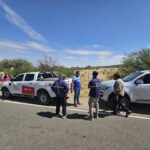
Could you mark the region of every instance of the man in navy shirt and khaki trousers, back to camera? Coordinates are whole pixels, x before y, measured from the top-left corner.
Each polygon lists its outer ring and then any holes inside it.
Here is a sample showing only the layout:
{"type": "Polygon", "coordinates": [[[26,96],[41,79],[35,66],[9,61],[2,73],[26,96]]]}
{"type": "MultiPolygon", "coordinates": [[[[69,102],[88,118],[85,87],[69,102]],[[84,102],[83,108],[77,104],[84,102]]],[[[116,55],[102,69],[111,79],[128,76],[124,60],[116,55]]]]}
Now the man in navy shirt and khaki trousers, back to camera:
{"type": "Polygon", "coordinates": [[[100,97],[100,88],[101,88],[101,81],[97,78],[98,72],[93,71],[92,74],[93,78],[91,81],[89,81],[88,87],[90,88],[89,92],[89,119],[94,120],[93,117],[93,107],[96,109],[96,119],[98,118],[99,113],[99,97],[100,97]]]}

